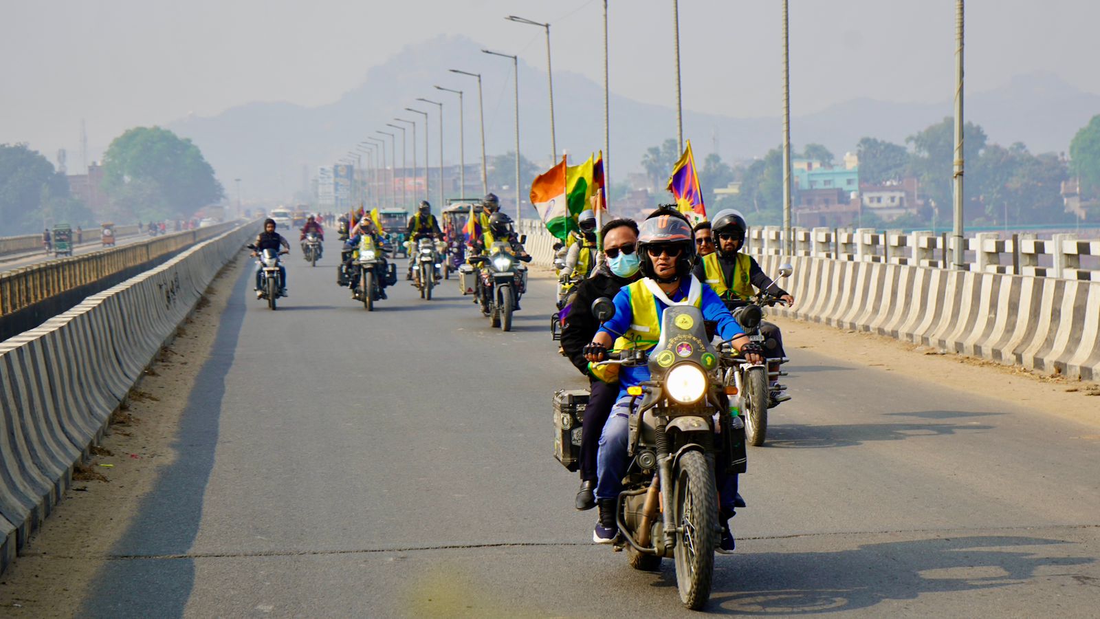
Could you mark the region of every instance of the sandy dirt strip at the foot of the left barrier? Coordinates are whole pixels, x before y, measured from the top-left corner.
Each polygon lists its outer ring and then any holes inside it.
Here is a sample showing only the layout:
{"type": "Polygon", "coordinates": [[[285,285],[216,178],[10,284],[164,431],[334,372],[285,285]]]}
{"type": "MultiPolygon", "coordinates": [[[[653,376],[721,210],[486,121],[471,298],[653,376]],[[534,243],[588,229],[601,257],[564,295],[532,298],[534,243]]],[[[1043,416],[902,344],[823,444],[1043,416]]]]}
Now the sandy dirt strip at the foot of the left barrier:
{"type": "Polygon", "coordinates": [[[191,385],[210,356],[218,321],[246,264],[215,278],[175,339],[117,412],[111,434],[73,479],[73,488],[0,577],[0,617],[74,617],[92,578],[176,454],[170,445],[191,385]]]}

